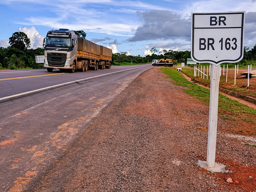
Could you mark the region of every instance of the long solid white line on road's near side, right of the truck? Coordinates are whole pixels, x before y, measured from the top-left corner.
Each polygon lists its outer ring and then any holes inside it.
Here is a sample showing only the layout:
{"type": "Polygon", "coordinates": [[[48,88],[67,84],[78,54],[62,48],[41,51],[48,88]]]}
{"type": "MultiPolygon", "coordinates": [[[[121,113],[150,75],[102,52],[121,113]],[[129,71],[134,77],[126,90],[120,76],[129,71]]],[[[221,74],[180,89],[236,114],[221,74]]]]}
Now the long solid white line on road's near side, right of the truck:
{"type": "MultiPolygon", "coordinates": [[[[148,67],[148,66],[146,66],[146,67],[148,67]]],[[[139,69],[139,68],[145,68],[145,67],[137,67],[137,68],[132,68],[132,69],[139,69]]],[[[109,75],[109,74],[114,74],[114,73],[119,73],[119,72],[123,72],[123,71],[127,71],[127,70],[132,70],[132,69],[120,70],[120,71],[106,73],[106,74],[102,74],[102,75],[98,75],[98,76],[87,77],[87,78],[84,78],[84,79],[78,79],[76,81],[70,81],[70,82],[66,82],[66,83],[56,84],[56,85],[53,85],[53,86],[44,87],[44,88],[40,88],[40,89],[33,90],[33,91],[27,91],[27,92],[24,92],[24,93],[18,93],[16,95],[10,95],[10,96],[6,96],[6,97],[2,97],[2,98],[0,98],[0,101],[1,100],[5,100],[5,99],[11,99],[13,97],[19,97],[19,96],[22,96],[22,95],[27,95],[29,93],[34,93],[34,92],[38,92],[38,91],[44,91],[44,90],[47,90],[47,89],[52,89],[54,87],[59,87],[59,86],[67,85],[67,84],[72,84],[72,83],[79,82],[79,81],[84,81],[84,80],[91,79],[91,78],[97,78],[97,77],[106,76],[106,75],[109,75]]]]}

